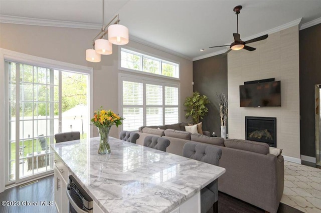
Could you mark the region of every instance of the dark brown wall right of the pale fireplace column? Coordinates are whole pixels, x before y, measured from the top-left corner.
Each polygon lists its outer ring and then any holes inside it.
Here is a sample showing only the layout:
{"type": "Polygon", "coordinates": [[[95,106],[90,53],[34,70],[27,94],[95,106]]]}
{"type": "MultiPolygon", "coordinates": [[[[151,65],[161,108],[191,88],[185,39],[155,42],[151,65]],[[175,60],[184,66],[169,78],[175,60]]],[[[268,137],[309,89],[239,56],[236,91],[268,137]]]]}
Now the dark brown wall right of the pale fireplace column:
{"type": "Polygon", "coordinates": [[[314,84],[321,83],[321,24],[299,31],[300,149],[315,157],[314,84]]]}

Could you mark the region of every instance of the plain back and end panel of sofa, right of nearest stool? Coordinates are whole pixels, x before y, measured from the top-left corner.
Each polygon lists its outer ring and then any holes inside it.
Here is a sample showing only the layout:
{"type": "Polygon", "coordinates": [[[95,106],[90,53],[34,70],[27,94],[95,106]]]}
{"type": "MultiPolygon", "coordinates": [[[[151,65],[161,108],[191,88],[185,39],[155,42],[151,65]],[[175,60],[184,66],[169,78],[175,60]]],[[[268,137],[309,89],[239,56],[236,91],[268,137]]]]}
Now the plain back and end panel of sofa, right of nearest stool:
{"type": "Polygon", "coordinates": [[[226,172],[219,177],[219,190],[275,213],[284,186],[283,156],[221,148],[219,166],[226,172]]]}

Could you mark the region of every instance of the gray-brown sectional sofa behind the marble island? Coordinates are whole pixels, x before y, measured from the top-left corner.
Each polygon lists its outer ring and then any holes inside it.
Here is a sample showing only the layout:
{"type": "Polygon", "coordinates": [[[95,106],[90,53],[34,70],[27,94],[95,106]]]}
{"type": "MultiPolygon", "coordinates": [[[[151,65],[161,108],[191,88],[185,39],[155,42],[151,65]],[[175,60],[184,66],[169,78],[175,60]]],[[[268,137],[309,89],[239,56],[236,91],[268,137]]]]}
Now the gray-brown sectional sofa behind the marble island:
{"type": "Polygon", "coordinates": [[[284,162],[281,154],[269,153],[269,145],[241,139],[210,137],[177,129],[142,127],[137,144],[147,135],[167,138],[167,152],[183,155],[186,142],[208,143],[222,149],[219,165],[226,172],[219,177],[219,190],[268,212],[277,212],[283,194],[284,162]]]}

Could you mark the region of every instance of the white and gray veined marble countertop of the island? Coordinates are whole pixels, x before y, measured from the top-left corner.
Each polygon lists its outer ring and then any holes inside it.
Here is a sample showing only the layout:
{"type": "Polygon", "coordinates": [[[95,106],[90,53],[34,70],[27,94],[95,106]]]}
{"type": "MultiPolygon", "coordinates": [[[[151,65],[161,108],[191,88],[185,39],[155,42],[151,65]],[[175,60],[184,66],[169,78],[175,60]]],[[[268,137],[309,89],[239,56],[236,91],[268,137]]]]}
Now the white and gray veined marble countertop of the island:
{"type": "Polygon", "coordinates": [[[106,212],[169,212],[225,172],[225,168],[110,139],[98,154],[99,137],[52,147],[92,199],[106,212]]]}

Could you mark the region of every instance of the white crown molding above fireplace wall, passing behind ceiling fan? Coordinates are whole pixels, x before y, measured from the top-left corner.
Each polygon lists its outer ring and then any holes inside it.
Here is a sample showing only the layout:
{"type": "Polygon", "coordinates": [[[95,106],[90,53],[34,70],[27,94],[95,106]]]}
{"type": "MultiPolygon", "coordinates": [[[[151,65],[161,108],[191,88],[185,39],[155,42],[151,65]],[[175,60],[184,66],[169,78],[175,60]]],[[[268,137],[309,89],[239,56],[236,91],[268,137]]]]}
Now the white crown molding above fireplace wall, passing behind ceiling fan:
{"type": "MultiPolygon", "coordinates": [[[[298,18],[296,20],[293,20],[293,21],[290,21],[288,23],[285,23],[285,24],[282,24],[280,26],[277,26],[277,27],[274,27],[272,29],[268,29],[266,31],[263,31],[263,32],[260,32],[260,33],[257,33],[257,34],[254,34],[254,35],[251,35],[251,36],[248,36],[248,37],[244,37],[242,38],[242,40],[250,40],[250,39],[253,39],[253,38],[256,38],[256,37],[259,37],[259,36],[262,36],[262,35],[265,35],[265,34],[271,34],[271,33],[274,33],[274,32],[278,32],[278,31],[281,31],[283,29],[287,29],[289,27],[292,27],[292,26],[295,26],[295,25],[298,25],[300,22],[301,22],[301,19],[302,18],[298,18]]],[[[311,22],[311,21],[310,21],[311,22]]],[[[214,56],[214,55],[218,55],[218,54],[222,54],[224,52],[226,52],[227,50],[219,50],[219,51],[216,51],[216,52],[212,52],[212,53],[209,53],[209,54],[205,54],[205,55],[201,55],[201,56],[198,56],[198,57],[194,57],[193,58],[193,61],[194,60],[199,60],[199,59],[203,59],[203,58],[207,58],[207,57],[211,57],[211,56],[214,56]],[[223,51],[223,52],[222,52],[223,51]]]]}

